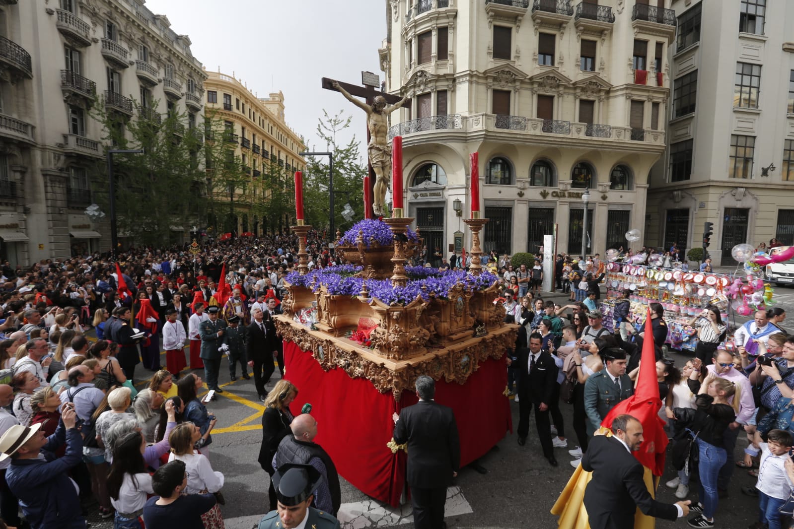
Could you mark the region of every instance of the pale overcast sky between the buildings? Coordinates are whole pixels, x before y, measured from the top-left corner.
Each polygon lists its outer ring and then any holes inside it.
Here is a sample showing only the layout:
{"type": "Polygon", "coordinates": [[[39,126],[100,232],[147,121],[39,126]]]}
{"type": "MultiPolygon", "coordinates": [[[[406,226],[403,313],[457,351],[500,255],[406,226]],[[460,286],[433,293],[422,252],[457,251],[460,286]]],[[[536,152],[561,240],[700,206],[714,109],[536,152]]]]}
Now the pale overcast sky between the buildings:
{"type": "Polygon", "coordinates": [[[326,109],[344,109],[365,156],[364,112],[341,94],[320,87],[329,77],[360,84],[361,71],[380,71],[378,48],[386,37],[384,0],[147,0],[172,29],[187,34],[207,71],[235,75],[260,98],[281,90],[287,124],[310,148],[325,151],[316,129],[326,109]]]}

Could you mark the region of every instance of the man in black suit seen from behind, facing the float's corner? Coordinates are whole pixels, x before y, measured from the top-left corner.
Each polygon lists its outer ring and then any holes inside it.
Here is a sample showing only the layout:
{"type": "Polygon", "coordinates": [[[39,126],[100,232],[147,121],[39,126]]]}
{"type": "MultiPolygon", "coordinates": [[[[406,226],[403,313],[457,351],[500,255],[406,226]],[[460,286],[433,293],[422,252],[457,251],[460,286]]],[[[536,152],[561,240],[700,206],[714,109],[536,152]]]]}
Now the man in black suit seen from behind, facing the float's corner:
{"type": "Polygon", "coordinates": [[[436,384],[423,374],[416,379],[418,404],[403,409],[395,420],[395,443],[408,443],[410,502],[416,529],[441,529],[446,488],[461,465],[461,443],[452,408],[433,400],[436,384]]]}

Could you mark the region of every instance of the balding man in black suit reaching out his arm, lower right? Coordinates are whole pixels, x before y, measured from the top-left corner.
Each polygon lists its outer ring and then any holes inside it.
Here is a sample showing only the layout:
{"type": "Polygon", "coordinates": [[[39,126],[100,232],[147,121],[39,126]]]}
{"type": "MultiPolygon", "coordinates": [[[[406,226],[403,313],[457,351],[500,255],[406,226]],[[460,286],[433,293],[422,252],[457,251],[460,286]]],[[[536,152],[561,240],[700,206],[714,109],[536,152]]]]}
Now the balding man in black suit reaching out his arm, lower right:
{"type": "Polygon", "coordinates": [[[689,514],[689,500],[663,504],[654,500],[642,464],[632,452],[642,444],[642,423],[630,415],[612,421],[612,435],[595,435],[582,458],[582,469],[592,472],[584,490],[584,507],[591,529],[632,529],[637,508],[646,516],[675,520],[689,514]]]}

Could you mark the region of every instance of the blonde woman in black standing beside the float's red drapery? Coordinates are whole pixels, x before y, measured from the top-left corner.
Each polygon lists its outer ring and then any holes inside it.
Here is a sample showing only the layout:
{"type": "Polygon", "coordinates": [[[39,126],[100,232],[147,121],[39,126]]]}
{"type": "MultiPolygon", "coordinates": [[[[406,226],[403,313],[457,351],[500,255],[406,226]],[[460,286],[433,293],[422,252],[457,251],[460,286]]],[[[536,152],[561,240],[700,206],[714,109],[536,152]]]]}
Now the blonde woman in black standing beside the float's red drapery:
{"type": "Polygon", "coordinates": [[[288,380],[283,378],[276,383],[268,397],[264,400],[264,412],[262,413],[262,446],[259,450],[259,464],[270,476],[270,487],[268,497],[270,499],[269,510],[276,508],[276,489],[273,489],[273,456],[279,448],[281,439],[291,435],[290,424],[292,423],[292,412],[290,404],[298,396],[298,388],[288,380]]]}

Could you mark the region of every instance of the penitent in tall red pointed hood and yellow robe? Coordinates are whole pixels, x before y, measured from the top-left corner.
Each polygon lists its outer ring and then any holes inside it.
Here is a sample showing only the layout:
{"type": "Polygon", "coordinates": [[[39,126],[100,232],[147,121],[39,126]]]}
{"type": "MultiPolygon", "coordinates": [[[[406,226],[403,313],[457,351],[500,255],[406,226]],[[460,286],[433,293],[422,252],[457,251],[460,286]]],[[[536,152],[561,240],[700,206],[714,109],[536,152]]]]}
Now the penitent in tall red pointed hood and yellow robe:
{"type": "MultiPolygon", "coordinates": [[[[634,457],[645,467],[644,480],[648,492],[655,496],[659,477],[665,471],[665,450],[667,448],[667,434],[665,421],[659,417],[661,399],[659,398],[659,384],[656,378],[656,355],[653,345],[653,326],[650,319],[650,309],[646,318],[645,340],[642,343],[642,364],[634,385],[634,395],[625,401],[620,401],[612,408],[601,422],[601,433],[611,435],[612,420],[624,413],[633,416],[642,423],[642,435],[645,441],[640,449],[634,452],[634,457]]],[[[591,473],[582,470],[580,465],[565,485],[557,503],[551,512],[560,516],[558,525],[561,529],[587,529],[588,513],[584,508],[584,489],[590,482],[591,473]]],[[[656,519],[645,516],[637,509],[634,517],[635,529],[653,529],[656,519]]]]}

